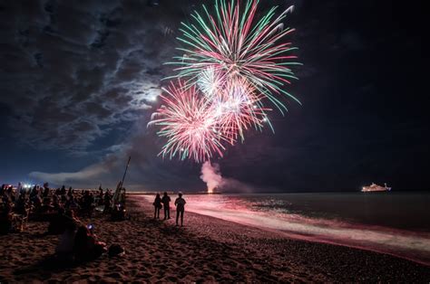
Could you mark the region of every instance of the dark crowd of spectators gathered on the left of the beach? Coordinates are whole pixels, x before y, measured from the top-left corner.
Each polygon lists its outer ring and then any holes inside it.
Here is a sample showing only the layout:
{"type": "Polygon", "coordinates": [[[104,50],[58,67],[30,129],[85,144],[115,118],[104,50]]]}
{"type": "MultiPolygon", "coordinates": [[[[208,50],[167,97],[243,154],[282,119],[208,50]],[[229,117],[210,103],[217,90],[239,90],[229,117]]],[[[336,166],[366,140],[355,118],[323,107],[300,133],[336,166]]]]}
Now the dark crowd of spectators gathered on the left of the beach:
{"type": "Polygon", "coordinates": [[[48,184],[24,188],[20,185],[2,185],[0,188],[0,234],[23,232],[30,218],[49,222],[46,234],[60,235],[55,250],[58,260],[93,260],[107,251],[106,244],[98,241],[92,224],[83,224],[79,217],[91,217],[96,206],[103,213],[112,213],[123,204],[112,206],[109,189],[98,191],[68,190],[65,186],[50,189],[48,184]]]}

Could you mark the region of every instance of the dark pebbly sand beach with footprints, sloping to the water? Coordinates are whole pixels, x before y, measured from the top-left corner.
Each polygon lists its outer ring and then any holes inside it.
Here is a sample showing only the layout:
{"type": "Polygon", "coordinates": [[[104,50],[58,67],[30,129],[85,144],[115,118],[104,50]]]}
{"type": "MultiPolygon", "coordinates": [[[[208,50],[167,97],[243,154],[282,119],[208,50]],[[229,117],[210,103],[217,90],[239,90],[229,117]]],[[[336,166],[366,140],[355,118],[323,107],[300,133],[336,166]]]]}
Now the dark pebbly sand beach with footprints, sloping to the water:
{"type": "MultiPolygon", "coordinates": [[[[44,235],[47,222],[0,236],[0,282],[428,282],[430,268],[373,251],[288,239],[276,232],[196,213],[185,226],[152,219],[142,196],[128,197],[131,220],[90,219],[100,241],[121,244],[126,254],[56,267],[49,261],[58,241],[44,235]]],[[[162,213],[161,213],[162,214],[162,213]]],[[[175,214],[171,214],[174,218],[175,214]]]]}

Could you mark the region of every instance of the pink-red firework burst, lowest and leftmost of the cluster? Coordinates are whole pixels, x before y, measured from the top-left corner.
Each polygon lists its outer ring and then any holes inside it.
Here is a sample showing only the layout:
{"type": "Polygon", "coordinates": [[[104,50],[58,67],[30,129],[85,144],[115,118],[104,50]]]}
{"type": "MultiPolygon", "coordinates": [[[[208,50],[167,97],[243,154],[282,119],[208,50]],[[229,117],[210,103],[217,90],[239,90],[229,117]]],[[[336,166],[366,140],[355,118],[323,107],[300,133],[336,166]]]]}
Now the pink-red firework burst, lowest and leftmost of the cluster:
{"type": "Polygon", "coordinates": [[[178,81],[163,90],[166,93],[161,95],[163,105],[152,114],[149,124],[160,126],[157,134],[168,139],[159,155],[202,162],[214,153],[222,156],[223,144],[234,144],[234,140],[219,131],[213,106],[195,87],[186,89],[178,81]]]}

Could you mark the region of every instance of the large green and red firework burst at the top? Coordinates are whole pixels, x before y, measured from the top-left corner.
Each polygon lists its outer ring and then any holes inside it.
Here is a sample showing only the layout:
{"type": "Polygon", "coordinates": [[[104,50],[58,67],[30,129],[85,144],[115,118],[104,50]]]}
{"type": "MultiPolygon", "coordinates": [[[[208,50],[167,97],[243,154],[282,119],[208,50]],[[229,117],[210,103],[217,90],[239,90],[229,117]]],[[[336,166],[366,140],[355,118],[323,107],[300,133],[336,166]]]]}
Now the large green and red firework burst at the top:
{"type": "MultiPolygon", "coordinates": [[[[290,80],[298,79],[289,68],[299,64],[291,54],[296,48],[281,41],[294,31],[281,23],[292,6],[278,17],[275,17],[277,7],[272,7],[268,14],[257,19],[258,3],[258,0],[249,0],[242,7],[239,1],[217,0],[214,15],[205,5],[202,5],[202,14],[191,14],[193,22],[181,23],[182,35],[178,38],[185,45],[179,48],[184,55],[168,62],[178,65],[175,69],[178,73],[168,78],[181,78],[187,85],[201,85],[202,80],[210,80],[208,72],[223,74],[223,80],[239,76],[249,80],[283,114],[287,107],[282,95],[298,101],[286,90],[290,80]]],[[[216,88],[218,82],[212,83],[203,85],[216,88]]]]}

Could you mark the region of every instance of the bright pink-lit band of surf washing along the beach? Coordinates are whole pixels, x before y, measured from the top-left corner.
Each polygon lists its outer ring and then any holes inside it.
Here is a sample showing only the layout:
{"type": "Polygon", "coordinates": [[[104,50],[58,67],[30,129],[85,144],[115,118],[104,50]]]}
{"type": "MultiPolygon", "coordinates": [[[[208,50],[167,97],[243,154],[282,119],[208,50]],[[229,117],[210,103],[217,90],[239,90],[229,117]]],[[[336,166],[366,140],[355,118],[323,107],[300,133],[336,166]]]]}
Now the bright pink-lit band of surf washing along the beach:
{"type": "MultiPolygon", "coordinates": [[[[288,213],[284,204],[249,206],[246,200],[231,201],[214,197],[199,202],[199,197],[188,196],[192,202],[186,210],[225,221],[238,222],[264,230],[276,231],[290,238],[346,245],[378,251],[430,265],[430,233],[411,232],[383,226],[366,225],[344,220],[313,218],[288,213]],[[274,206],[273,206],[274,205],[274,206]],[[252,208],[252,210],[249,209],[252,208]],[[269,209],[268,209],[269,208],[269,209]]],[[[146,196],[150,202],[153,196],[146,196]]]]}

